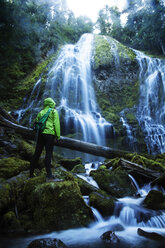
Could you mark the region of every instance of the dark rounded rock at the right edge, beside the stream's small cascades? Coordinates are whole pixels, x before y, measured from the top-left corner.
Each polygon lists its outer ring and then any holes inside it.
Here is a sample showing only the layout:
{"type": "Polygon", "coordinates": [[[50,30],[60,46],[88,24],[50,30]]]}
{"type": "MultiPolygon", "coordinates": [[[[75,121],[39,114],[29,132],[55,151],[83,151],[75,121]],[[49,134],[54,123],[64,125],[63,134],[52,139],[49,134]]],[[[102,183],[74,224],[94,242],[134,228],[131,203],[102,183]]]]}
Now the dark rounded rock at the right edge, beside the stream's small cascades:
{"type": "Polygon", "coordinates": [[[165,195],[161,191],[151,190],[144,199],[143,205],[154,210],[165,209],[165,195]]]}

